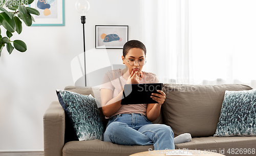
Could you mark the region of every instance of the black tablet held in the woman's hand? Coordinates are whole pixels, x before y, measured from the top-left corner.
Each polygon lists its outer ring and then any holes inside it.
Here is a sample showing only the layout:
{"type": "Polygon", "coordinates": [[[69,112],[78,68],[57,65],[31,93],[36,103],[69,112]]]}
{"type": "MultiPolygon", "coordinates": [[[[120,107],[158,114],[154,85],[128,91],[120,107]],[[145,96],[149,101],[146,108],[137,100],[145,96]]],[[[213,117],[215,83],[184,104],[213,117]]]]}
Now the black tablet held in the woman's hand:
{"type": "Polygon", "coordinates": [[[162,88],[163,83],[124,84],[121,104],[158,103],[150,96],[152,93],[160,94],[157,90],[162,91],[162,88]]]}

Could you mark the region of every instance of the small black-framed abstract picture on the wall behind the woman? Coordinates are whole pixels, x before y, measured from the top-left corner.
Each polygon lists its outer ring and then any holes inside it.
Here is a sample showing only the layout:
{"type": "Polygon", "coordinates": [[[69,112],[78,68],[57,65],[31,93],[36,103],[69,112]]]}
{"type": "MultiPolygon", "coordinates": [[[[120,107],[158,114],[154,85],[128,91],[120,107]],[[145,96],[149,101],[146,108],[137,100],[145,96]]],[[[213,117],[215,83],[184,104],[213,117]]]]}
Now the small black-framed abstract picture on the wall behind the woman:
{"type": "Polygon", "coordinates": [[[97,49],[122,49],[127,41],[128,26],[95,26],[95,48],[97,49]]]}

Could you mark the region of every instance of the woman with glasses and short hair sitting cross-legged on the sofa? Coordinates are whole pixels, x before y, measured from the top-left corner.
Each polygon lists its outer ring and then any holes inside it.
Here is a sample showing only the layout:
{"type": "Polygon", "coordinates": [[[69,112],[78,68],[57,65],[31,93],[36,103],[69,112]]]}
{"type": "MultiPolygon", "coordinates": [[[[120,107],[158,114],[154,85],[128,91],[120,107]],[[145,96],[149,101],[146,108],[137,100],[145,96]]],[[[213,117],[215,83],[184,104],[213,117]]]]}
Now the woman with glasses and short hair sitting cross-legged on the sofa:
{"type": "Polygon", "coordinates": [[[142,72],[146,48],[138,40],[123,46],[125,69],[106,72],[100,87],[102,111],[109,119],[103,140],[121,145],[154,145],[155,150],[175,149],[173,130],[164,124],[152,124],[165,100],[165,93],[152,94],[154,104],[121,105],[124,84],[158,83],[155,74],[142,72]]]}

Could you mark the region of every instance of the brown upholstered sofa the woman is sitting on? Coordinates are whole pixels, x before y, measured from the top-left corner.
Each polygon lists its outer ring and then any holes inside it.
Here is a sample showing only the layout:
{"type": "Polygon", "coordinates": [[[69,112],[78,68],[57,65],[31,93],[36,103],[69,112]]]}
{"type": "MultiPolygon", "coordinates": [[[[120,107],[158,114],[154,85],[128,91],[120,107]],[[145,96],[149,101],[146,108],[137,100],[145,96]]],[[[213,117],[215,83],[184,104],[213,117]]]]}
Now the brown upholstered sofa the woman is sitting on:
{"type": "MultiPolygon", "coordinates": [[[[107,120],[101,109],[100,91],[97,87],[67,86],[66,91],[82,95],[91,94],[97,100],[102,122],[107,120]]],[[[172,127],[175,137],[181,133],[191,134],[190,142],[175,144],[176,149],[196,149],[213,151],[224,155],[255,155],[256,137],[214,137],[219,122],[225,91],[248,91],[252,88],[243,84],[223,85],[188,85],[163,84],[166,94],[161,113],[153,123],[166,124],[172,127]],[[241,152],[241,149],[244,150],[241,152]],[[236,154],[240,150],[240,154],[236,154]],[[250,150],[251,152],[245,152],[250,150]]],[[[65,112],[58,101],[50,104],[44,115],[44,154],[45,156],[61,155],[131,155],[153,149],[148,146],[118,145],[101,140],[66,141],[65,112]]]]}

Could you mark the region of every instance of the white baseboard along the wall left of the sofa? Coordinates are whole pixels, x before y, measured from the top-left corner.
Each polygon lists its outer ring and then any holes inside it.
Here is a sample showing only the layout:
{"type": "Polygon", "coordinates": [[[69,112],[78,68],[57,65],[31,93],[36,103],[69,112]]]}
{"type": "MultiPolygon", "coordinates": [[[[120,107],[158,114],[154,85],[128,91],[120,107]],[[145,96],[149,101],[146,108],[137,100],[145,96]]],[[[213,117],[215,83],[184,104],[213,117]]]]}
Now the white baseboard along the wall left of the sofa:
{"type": "Polygon", "coordinates": [[[0,150],[0,156],[44,156],[44,150],[0,150]]]}

